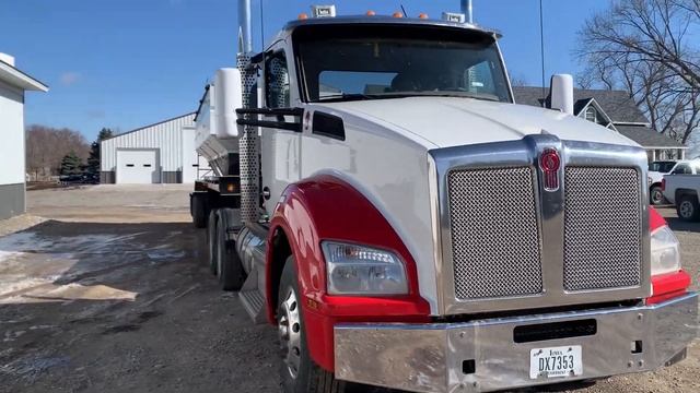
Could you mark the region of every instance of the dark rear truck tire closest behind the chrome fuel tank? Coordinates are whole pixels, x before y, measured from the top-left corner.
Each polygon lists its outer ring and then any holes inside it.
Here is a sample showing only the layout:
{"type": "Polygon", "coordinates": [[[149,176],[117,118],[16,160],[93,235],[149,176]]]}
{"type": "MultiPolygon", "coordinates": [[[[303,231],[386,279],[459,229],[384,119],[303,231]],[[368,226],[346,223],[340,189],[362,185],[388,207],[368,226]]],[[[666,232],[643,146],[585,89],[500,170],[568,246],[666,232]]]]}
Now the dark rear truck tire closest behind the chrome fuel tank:
{"type": "Polygon", "coordinates": [[[235,241],[229,240],[229,215],[219,211],[217,225],[217,275],[223,290],[238,290],[245,282],[245,271],[235,249],[235,241]]]}

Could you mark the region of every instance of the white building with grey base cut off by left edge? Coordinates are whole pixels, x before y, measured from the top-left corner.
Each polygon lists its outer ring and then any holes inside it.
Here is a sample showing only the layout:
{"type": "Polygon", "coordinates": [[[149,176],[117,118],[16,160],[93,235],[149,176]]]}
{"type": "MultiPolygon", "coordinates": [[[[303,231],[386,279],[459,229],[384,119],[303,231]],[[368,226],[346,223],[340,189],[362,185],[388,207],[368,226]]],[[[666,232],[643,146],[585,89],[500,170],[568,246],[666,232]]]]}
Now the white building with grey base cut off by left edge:
{"type": "Polygon", "coordinates": [[[48,87],[0,53],[0,219],[25,211],[24,92],[48,87]]]}

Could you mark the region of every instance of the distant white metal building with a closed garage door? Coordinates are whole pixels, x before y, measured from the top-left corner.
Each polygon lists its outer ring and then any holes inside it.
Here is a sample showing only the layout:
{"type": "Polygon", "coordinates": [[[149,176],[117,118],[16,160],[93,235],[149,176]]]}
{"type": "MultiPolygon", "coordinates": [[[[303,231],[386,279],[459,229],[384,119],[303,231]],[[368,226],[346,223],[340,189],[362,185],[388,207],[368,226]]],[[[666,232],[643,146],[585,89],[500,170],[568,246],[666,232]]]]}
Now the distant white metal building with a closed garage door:
{"type": "Polygon", "coordinates": [[[194,119],[187,114],[102,141],[101,182],[194,182],[209,169],[195,151],[194,119]]]}

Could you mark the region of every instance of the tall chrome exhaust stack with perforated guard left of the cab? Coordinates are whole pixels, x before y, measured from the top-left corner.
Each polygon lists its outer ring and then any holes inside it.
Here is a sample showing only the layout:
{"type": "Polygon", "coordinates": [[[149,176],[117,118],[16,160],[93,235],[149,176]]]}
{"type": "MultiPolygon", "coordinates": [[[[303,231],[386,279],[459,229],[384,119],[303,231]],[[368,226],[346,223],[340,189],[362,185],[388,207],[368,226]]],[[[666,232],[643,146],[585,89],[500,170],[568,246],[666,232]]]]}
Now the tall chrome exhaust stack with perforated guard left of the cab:
{"type": "MultiPolygon", "coordinates": [[[[252,67],[253,37],[250,36],[250,0],[238,0],[238,55],[237,68],[241,70],[243,107],[250,108],[253,88],[257,81],[257,70],[252,67]]],[[[245,115],[254,117],[255,115],[245,115]]],[[[253,126],[245,126],[238,139],[238,159],[241,160],[241,219],[243,223],[256,223],[259,207],[259,136],[253,126]]]]}

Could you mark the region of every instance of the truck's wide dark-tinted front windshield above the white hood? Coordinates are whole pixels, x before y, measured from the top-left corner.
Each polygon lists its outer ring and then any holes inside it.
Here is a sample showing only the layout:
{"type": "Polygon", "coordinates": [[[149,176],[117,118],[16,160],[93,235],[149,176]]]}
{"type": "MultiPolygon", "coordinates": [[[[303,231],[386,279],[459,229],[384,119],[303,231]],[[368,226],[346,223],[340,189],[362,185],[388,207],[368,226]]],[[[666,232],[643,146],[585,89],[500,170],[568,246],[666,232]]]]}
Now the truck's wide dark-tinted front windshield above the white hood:
{"type": "Polygon", "coordinates": [[[307,26],[294,35],[308,102],[464,96],[511,102],[495,40],[433,26],[307,26]]]}

